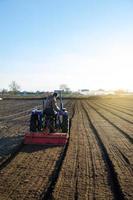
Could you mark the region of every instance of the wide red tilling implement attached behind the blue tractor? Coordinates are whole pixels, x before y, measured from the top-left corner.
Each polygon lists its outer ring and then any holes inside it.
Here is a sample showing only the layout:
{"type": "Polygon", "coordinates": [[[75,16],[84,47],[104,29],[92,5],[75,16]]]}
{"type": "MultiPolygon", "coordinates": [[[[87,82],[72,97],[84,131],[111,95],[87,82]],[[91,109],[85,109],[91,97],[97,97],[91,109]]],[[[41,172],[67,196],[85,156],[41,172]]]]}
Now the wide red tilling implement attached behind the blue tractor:
{"type": "Polygon", "coordinates": [[[40,145],[65,145],[68,140],[67,133],[26,133],[24,144],[40,144],[40,145]]]}

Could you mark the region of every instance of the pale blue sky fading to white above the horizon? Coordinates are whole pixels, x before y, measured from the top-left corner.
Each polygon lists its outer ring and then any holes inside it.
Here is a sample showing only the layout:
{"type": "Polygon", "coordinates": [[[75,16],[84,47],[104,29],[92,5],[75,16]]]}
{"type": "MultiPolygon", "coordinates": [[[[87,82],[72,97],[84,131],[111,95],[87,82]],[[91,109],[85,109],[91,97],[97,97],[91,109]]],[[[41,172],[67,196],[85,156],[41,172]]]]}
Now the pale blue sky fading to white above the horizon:
{"type": "Polygon", "coordinates": [[[133,91],[132,0],[0,0],[0,90],[133,91]]]}

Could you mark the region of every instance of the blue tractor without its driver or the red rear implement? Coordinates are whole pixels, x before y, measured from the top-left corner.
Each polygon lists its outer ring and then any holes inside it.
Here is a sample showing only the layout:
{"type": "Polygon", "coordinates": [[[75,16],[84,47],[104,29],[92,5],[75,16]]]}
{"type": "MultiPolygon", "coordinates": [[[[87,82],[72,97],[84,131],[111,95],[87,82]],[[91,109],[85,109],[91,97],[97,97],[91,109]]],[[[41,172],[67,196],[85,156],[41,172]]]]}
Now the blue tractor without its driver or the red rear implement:
{"type": "Polygon", "coordinates": [[[30,118],[30,132],[47,132],[47,133],[68,133],[69,117],[67,110],[63,107],[62,91],[56,90],[59,94],[60,111],[55,116],[45,114],[43,101],[43,110],[34,109],[30,118]]]}

